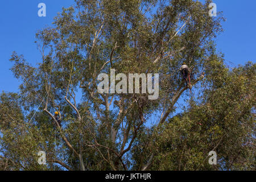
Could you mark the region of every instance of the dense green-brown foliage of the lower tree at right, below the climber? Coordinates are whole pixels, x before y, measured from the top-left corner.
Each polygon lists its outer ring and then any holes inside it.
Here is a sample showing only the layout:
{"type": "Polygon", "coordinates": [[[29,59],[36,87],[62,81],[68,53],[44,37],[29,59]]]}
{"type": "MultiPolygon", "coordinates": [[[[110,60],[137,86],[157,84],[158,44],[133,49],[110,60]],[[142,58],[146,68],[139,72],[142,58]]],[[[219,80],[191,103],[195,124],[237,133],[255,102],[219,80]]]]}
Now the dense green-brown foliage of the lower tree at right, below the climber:
{"type": "Polygon", "coordinates": [[[156,136],[152,169],[254,170],[255,71],[252,63],[232,72],[219,69],[220,80],[204,90],[204,102],[169,119],[156,136]],[[208,163],[212,150],[217,166],[208,163]]]}

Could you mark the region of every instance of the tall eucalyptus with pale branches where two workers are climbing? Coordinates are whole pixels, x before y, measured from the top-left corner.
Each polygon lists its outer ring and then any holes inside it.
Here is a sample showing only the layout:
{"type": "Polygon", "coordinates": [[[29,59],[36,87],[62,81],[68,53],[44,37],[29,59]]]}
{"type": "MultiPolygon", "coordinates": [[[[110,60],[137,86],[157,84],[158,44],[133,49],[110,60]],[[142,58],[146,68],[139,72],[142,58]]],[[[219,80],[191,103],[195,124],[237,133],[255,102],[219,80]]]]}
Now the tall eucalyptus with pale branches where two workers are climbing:
{"type": "MultiPolygon", "coordinates": [[[[16,52],[10,59],[14,76],[22,81],[19,119],[27,126],[27,139],[49,154],[47,169],[57,168],[53,163],[75,170],[131,169],[131,150],[142,144],[138,138],[148,128],[166,123],[188,90],[178,72],[180,65],[189,65],[194,88],[212,74],[210,61],[222,64],[214,38],[222,31],[224,18],[209,16],[211,1],[75,2],[56,16],[52,27],[37,32],[42,60],[36,67],[16,52]],[[99,93],[97,78],[101,73],[110,76],[110,69],[126,76],[158,73],[158,99],[148,100],[147,93],[99,93]],[[55,111],[64,123],[56,131],[51,130],[55,111]],[[40,142],[33,132],[44,133],[40,142]],[[57,142],[49,137],[53,133],[57,142]]],[[[137,169],[149,169],[154,156],[143,156],[137,169]]],[[[31,165],[38,167],[36,162],[19,167],[31,165]]]]}

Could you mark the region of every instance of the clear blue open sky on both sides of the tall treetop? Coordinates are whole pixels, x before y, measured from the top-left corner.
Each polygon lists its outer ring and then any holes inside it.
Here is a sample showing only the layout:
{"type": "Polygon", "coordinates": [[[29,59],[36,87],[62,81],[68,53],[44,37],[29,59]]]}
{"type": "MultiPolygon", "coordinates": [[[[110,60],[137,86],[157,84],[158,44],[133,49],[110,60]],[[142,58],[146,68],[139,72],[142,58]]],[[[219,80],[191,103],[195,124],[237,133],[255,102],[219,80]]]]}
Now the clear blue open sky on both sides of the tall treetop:
{"type": "MultiPolygon", "coordinates": [[[[203,0],[201,0],[203,1],[203,0]]],[[[217,37],[217,49],[225,54],[231,66],[255,63],[256,51],[256,1],[255,0],[213,0],[217,11],[223,11],[226,22],[224,30],[217,37]]],[[[74,4],[73,0],[8,0],[0,6],[0,92],[17,92],[19,82],[13,77],[9,59],[13,51],[23,54],[32,65],[40,62],[36,48],[35,33],[47,25],[62,7],[74,4]],[[38,16],[38,4],[46,3],[47,16],[38,16]]]]}

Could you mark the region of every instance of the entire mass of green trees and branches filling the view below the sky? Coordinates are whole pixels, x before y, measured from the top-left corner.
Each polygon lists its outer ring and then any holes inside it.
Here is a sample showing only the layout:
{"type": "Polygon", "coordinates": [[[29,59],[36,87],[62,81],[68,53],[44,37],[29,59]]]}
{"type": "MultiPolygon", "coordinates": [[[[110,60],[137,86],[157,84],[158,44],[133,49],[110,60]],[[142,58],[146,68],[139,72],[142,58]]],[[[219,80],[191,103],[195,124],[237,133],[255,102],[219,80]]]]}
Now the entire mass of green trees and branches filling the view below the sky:
{"type": "Polygon", "coordinates": [[[0,170],[255,169],[256,65],[225,64],[215,43],[225,19],[209,16],[211,1],[75,2],[36,33],[38,65],[11,56],[21,84],[0,97],[0,170]],[[97,77],[110,69],[159,73],[158,99],[98,93],[97,77]]]}

